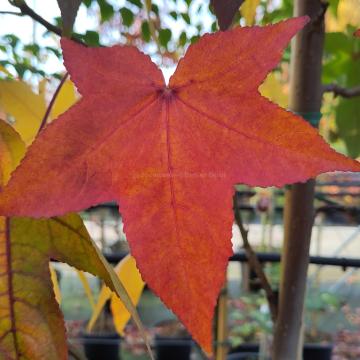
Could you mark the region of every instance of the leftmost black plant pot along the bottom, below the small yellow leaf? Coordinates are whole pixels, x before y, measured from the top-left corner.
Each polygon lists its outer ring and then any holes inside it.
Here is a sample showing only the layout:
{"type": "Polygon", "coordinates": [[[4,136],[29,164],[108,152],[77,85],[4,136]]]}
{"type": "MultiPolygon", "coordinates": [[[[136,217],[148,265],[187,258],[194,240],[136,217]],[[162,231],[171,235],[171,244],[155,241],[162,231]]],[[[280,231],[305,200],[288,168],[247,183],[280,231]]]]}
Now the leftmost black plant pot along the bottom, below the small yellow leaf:
{"type": "Polygon", "coordinates": [[[111,334],[84,334],[84,352],[88,360],[119,360],[120,337],[111,334]]]}

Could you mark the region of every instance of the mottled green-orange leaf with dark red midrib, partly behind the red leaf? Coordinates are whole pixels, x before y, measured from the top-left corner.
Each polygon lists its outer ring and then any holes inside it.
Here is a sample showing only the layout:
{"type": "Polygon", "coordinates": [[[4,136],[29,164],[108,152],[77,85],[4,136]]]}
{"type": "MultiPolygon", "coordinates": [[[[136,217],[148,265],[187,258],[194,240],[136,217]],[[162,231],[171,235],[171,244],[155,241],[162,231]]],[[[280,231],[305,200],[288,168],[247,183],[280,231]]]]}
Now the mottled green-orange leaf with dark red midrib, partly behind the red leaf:
{"type": "MultiPolygon", "coordinates": [[[[24,154],[19,134],[0,121],[0,187],[24,154]]],[[[78,215],[41,220],[0,217],[0,256],[0,359],[67,358],[64,321],[55,300],[60,300],[60,293],[57,282],[51,281],[56,275],[54,271],[50,275],[50,258],[102,277],[139,325],[129,296],[78,215]]]]}

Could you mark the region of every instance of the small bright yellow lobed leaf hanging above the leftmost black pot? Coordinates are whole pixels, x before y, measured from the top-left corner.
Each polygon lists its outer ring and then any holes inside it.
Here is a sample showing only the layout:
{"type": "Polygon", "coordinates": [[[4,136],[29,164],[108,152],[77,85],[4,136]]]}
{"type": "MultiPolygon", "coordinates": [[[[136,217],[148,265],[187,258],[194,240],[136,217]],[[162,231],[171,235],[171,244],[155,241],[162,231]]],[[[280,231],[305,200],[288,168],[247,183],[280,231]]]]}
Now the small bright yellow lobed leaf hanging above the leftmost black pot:
{"type": "MultiPolygon", "coordinates": [[[[142,281],[140,272],[136,267],[135,259],[132,256],[127,255],[116,265],[115,273],[118,275],[121,283],[125,286],[133,304],[137,305],[145,284],[142,281]]],[[[127,311],[122,301],[118,300],[106,286],[103,286],[100,291],[95,309],[87,325],[87,331],[90,332],[92,330],[103,307],[105,306],[105,303],[110,298],[116,330],[119,334],[123,333],[126,323],[130,320],[131,314],[127,311]]]]}

